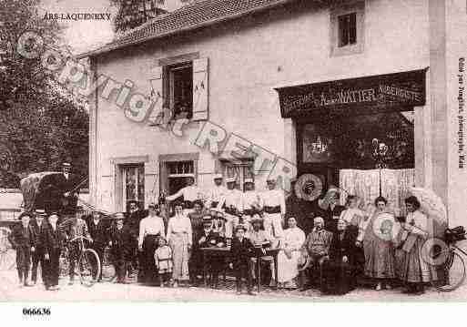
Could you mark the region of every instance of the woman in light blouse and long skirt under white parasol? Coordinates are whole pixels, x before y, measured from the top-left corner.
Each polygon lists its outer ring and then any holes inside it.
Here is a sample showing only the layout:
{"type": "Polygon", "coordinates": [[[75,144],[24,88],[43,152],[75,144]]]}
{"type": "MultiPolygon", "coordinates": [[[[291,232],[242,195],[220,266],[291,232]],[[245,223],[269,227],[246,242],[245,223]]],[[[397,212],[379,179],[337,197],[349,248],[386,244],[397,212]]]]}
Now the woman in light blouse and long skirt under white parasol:
{"type": "Polygon", "coordinates": [[[420,202],[416,197],[405,199],[407,218],[403,225],[407,233],[402,250],[401,280],[407,285],[407,293],[422,294],[423,283],[436,279],[434,266],[427,261],[430,258],[423,256],[423,244],[430,237],[429,221],[427,216],[421,213],[420,202]]]}

